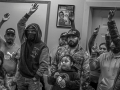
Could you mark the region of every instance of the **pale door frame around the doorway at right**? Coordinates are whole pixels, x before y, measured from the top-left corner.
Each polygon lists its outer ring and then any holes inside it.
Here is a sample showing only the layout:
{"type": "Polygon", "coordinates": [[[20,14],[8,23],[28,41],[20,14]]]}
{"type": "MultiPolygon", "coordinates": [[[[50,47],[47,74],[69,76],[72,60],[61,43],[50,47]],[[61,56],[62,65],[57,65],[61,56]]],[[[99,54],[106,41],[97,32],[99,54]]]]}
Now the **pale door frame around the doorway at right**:
{"type": "MultiPolygon", "coordinates": [[[[85,1],[84,12],[83,12],[83,23],[82,23],[82,39],[81,39],[81,42],[82,42],[81,46],[83,48],[86,48],[88,44],[89,37],[91,36],[91,34],[89,33],[92,33],[92,31],[90,32],[90,28],[89,28],[90,23],[92,23],[90,22],[90,18],[92,18],[90,15],[92,12],[91,11],[92,7],[94,8],[95,7],[119,7],[120,8],[120,0],[86,0],[85,1]]],[[[92,23],[92,24],[96,24],[96,23],[92,23]]],[[[98,25],[96,25],[95,27],[97,26],[98,25]]],[[[94,28],[91,28],[91,30],[94,30],[94,28]]]]}

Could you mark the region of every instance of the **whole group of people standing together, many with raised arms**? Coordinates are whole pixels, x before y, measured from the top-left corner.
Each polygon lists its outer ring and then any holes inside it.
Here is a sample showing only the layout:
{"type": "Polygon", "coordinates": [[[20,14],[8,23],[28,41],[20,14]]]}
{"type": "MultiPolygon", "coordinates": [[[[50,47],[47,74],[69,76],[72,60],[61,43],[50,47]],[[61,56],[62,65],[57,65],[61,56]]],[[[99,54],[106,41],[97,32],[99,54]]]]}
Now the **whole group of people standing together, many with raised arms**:
{"type": "MultiPolygon", "coordinates": [[[[41,40],[42,30],[36,23],[26,26],[39,5],[32,4],[30,11],[17,23],[21,46],[15,43],[16,30],[8,28],[4,39],[0,37],[0,90],[120,90],[120,35],[113,17],[108,14],[105,41],[99,45],[95,39],[100,26],[95,28],[88,42],[88,51],[80,46],[80,32],[69,17],[71,29],[60,35],[58,47],[49,51],[41,40]]],[[[0,28],[8,21],[6,13],[0,28]]]]}

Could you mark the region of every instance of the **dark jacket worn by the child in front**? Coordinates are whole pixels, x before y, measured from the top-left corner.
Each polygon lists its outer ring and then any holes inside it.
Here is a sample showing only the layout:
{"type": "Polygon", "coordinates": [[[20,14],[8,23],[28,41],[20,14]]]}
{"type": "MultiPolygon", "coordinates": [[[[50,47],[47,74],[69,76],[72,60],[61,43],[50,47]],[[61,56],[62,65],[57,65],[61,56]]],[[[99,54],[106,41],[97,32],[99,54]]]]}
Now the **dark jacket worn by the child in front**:
{"type": "Polygon", "coordinates": [[[64,78],[66,82],[66,86],[64,88],[61,88],[60,85],[58,85],[56,78],[54,78],[54,74],[48,77],[48,83],[50,85],[53,85],[51,90],[79,90],[80,89],[80,77],[79,74],[74,71],[74,69],[65,71],[57,71],[62,78],[64,78]]]}

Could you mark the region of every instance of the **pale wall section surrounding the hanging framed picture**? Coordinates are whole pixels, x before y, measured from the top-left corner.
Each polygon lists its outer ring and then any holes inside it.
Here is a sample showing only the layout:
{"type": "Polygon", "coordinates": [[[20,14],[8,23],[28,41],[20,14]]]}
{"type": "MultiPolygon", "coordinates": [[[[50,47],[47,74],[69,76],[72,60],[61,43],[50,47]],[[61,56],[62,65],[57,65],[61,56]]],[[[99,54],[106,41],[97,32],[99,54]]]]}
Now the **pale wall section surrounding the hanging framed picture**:
{"type": "MultiPolygon", "coordinates": [[[[29,0],[30,1],[30,0],[29,0]]],[[[40,0],[46,1],[46,0],[40,0]]],[[[51,50],[58,45],[58,38],[62,32],[67,32],[69,29],[57,28],[56,19],[57,19],[57,9],[58,4],[70,4],[75,5],[75,25],[76,28],[81,32],[82,31],[82,20],[83,20],[83,8],[85,0],[47,0],[51,1],[50,9],[50,20],[49,20],[49,31],[48,31],[48,41],[47,45],[51,50]]]]}

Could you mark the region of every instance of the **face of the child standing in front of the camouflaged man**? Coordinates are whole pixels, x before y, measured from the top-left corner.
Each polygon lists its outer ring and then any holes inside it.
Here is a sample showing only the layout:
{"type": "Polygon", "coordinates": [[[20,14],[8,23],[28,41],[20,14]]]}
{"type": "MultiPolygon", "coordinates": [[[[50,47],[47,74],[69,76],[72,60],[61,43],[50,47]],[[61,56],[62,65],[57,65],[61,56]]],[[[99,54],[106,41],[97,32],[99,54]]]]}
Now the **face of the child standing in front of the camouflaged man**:
{"type": "Polygon", "coordinates": [[[61,60],[61,65],[60,66],[63,70],[70,69],[71,66],[72,66],[70,58],[69,57],[63,57],[62,60],[61,60]]]}

